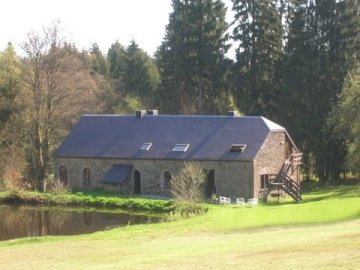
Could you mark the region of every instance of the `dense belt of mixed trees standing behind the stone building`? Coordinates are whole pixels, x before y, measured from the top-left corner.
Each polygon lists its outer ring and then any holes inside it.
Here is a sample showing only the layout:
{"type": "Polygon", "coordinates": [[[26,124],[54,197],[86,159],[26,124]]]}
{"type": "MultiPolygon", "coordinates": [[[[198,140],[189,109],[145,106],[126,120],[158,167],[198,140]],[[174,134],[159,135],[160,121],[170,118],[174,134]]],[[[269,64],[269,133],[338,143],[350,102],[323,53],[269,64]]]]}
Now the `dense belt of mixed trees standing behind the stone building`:
{"type": "Polygon", "coordinates": [[[287,127],[305,178],[359,169],[359,0],[172,0],[154,57],[135,41],[79,51],[58,25],[0,53],[0,179],[42,189],[83,113],[223,114],[287,127]],[[235,59],[227,52],[233,46],[235,59]],[[24,182],[23,179],[27,181],[24,182]]]}

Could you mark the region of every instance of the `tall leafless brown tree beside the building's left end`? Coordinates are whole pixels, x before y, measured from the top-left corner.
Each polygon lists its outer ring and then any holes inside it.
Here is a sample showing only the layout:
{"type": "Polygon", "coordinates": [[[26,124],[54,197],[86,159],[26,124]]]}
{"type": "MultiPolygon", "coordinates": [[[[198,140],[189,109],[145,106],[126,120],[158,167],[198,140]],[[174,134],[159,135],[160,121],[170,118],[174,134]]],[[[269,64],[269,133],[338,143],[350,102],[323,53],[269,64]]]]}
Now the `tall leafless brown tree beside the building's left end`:
{"type": "Polygon", "coordinates": [[[58,25],[45,29],[43,36],[30,33],[22,48],[25,88],[18,101],[24,106],[29,176],[43,189],[54,147],[82,113],[96,108],[95,83],[81,54],[60,37],[58,25]]]}

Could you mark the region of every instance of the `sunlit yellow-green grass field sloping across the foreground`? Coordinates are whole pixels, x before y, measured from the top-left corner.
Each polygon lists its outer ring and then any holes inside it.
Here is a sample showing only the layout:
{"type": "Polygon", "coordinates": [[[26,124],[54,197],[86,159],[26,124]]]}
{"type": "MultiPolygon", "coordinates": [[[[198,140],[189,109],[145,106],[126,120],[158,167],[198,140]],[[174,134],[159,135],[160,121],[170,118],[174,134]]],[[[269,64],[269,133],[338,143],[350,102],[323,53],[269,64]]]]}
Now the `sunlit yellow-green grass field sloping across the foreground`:
{"type": "Polygon", "coordinates": [[[304,201],[209,206],[175,222],[0,242],[0,269],[358,269],[360,186],[304,201]]]}

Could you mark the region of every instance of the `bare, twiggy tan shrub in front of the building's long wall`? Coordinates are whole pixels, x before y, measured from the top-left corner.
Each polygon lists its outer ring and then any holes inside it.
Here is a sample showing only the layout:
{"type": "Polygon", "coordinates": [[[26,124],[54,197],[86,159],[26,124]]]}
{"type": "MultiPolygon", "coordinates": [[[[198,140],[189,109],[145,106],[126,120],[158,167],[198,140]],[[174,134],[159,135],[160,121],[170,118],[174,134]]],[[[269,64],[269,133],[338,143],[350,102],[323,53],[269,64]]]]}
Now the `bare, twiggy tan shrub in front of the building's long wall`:
{"type": "Polygon", "coordinates": [[[176,201],[197,203],[202,200],[201,185],[206,174],[199,163],[185,162],[184,167],[171,180],[169,189],[176,201]]]}

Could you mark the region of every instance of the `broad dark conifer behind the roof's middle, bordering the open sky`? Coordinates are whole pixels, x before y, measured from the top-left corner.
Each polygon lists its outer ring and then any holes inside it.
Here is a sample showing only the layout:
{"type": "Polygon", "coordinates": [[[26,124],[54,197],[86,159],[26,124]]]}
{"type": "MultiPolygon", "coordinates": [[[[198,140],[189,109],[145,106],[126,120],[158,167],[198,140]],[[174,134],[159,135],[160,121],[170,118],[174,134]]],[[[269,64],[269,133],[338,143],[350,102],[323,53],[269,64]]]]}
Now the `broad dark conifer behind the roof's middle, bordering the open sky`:
{"type": "Polygon", "coordinates": [[[173,0],[157,54],[160,106],[172,113],[219,112],[213,101],[228,92],[226,8],[219,0],[173,0]]]}

